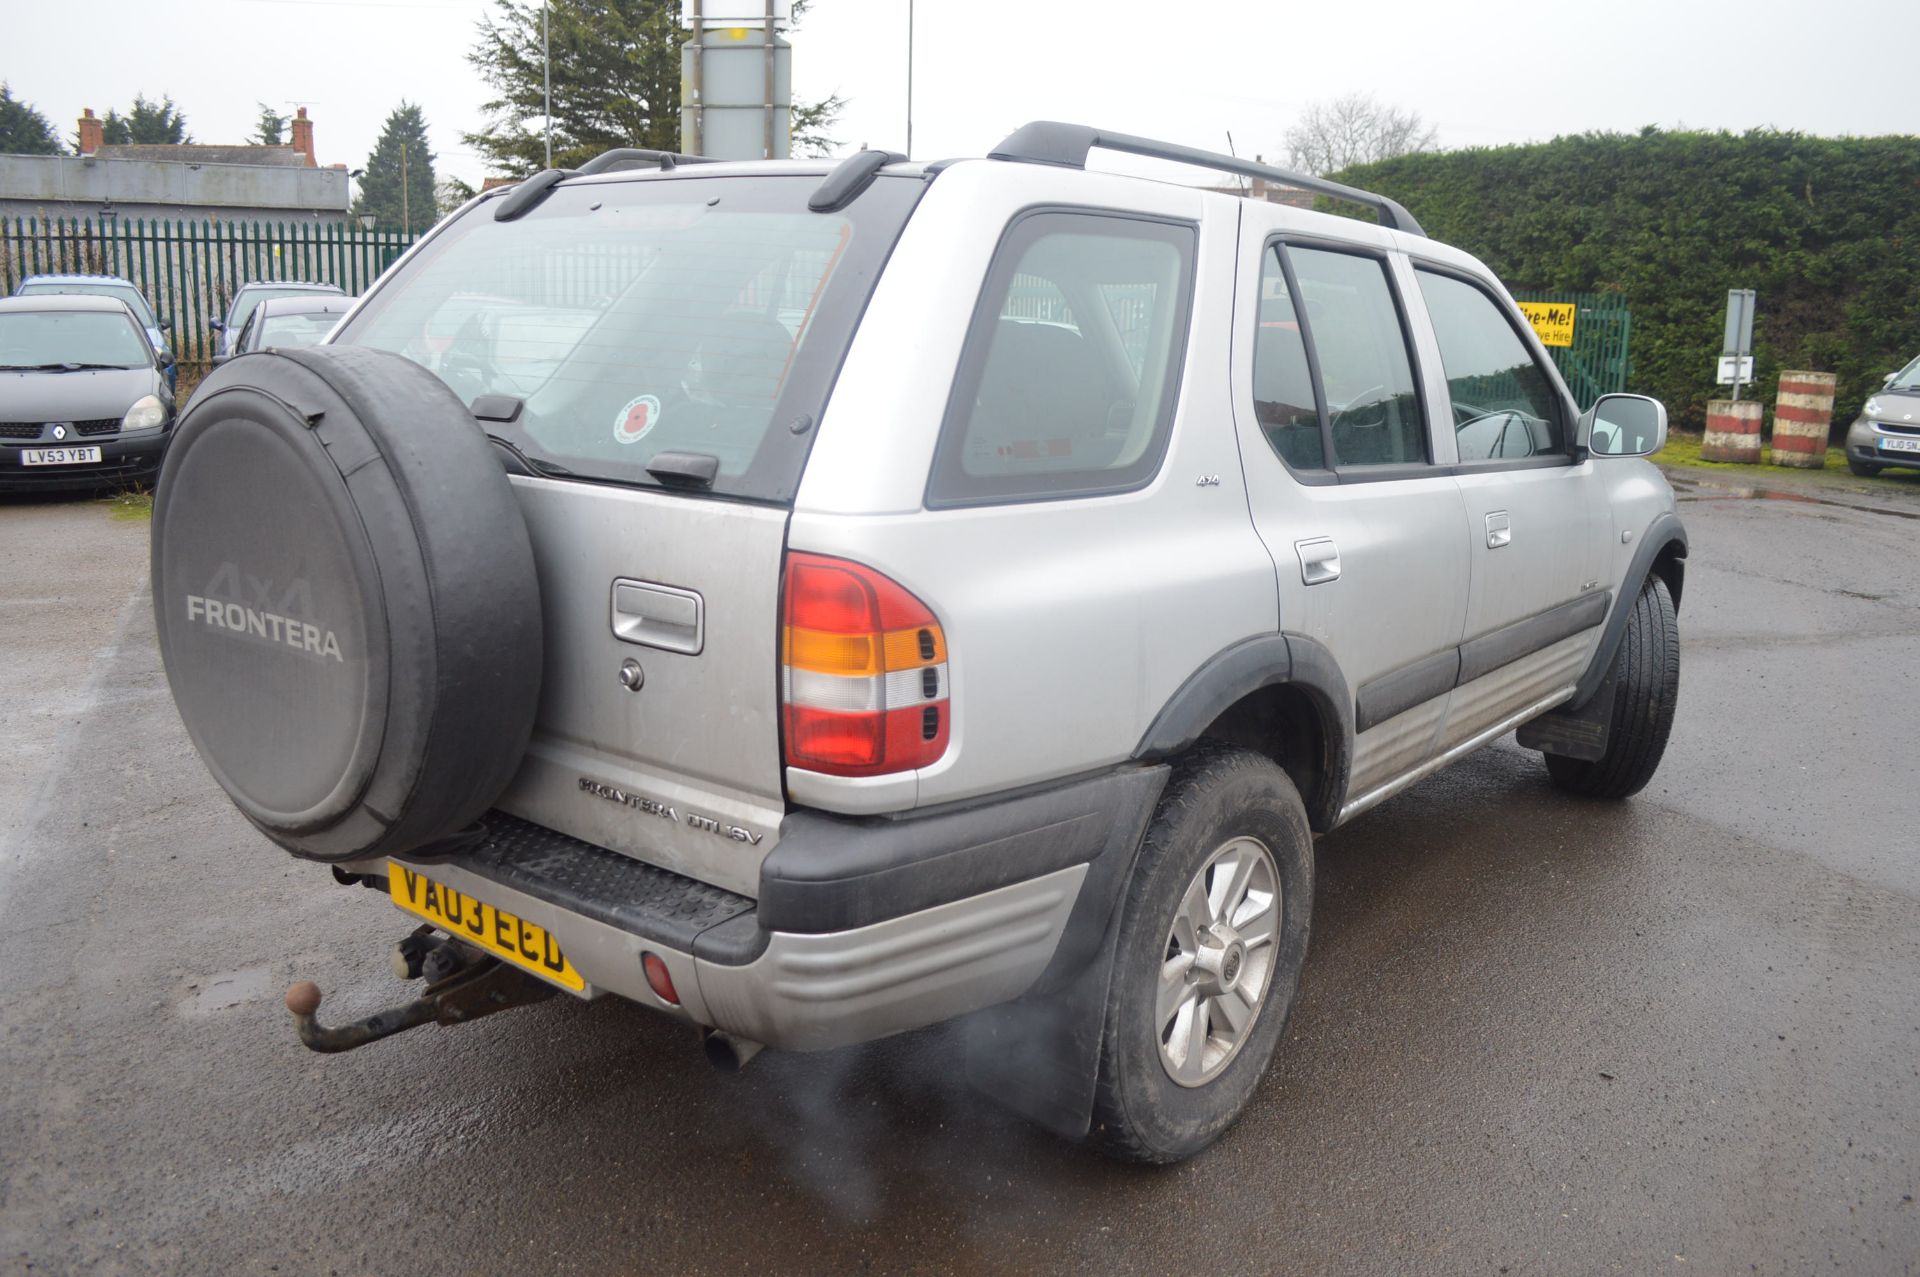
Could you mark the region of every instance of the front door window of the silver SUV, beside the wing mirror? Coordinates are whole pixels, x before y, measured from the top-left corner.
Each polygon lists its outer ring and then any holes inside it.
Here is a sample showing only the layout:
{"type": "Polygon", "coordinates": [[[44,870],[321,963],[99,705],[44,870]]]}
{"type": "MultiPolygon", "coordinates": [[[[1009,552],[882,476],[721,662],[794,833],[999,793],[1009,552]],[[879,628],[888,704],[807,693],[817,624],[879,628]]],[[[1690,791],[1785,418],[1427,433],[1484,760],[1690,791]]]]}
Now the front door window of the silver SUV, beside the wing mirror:
{"type": "Polygon", "coordinates": [[[1553,380],[1513,323],[1473,284],[1417,271],[1432,317],[1461,461],[1517,461],[1565,453],[1553,380]]]}

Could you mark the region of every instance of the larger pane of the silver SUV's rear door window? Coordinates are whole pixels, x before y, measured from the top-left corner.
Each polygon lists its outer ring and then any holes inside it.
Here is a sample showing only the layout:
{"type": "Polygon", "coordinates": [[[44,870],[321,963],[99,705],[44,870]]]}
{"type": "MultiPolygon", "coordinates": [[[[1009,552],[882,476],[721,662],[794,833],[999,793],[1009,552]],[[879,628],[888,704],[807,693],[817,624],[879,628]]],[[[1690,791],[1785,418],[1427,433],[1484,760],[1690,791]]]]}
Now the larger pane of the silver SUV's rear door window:
{"type": "Polygon", "coordinates": [[[1413,382],[1386,263],[1290,246],[1336,467],[1413,465],[1427,457],[1427,422],[1413,382]]]}

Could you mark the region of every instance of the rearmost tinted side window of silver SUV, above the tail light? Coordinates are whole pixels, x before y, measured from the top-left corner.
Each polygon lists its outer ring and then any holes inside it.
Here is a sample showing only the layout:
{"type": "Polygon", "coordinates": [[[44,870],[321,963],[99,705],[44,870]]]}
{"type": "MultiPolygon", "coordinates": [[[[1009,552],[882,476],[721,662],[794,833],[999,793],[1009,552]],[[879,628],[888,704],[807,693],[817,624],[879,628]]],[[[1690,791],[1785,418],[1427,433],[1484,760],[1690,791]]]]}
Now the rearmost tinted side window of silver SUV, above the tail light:
{"type": "Polygon", "coordinates": [[[1160,469],[1192,301],[1194,229],[1043,211],[995,253],[929,505],[1125,492],[1160,469]]]}

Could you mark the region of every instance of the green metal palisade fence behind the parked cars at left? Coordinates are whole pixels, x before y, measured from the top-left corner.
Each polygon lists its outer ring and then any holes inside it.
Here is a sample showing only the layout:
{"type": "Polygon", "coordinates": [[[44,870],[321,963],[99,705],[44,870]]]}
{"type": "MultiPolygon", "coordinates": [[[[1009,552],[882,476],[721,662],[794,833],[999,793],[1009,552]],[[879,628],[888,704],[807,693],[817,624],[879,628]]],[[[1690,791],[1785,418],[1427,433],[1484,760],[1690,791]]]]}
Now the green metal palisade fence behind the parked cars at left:
{"type": "Polygon", "coordinates": [[[205,365],[207,323],[240,284],[307,280],[359,296],[419,234],[315,221],[0,219],[0,296],[29,275],[123,275],[169,325],[180,365],[205,365]]]}

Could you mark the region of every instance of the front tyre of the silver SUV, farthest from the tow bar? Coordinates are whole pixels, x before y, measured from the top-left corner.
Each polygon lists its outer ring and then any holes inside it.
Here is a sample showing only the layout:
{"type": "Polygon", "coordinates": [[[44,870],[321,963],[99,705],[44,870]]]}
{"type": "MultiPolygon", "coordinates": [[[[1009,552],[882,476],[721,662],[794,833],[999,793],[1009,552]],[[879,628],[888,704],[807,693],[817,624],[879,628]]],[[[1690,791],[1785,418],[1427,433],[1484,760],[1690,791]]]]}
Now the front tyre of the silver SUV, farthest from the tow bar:
{"type": "Polygon", "coordinates": [[[1640,793],[1667,753],[1680,697],[1680,620],[1659,576],[1649,576],[1634,599],[1611,678],[1615,699],[1607,753],[1594,760],[1546,755],[1553,783],[1590,799],[1640,793]]]}

